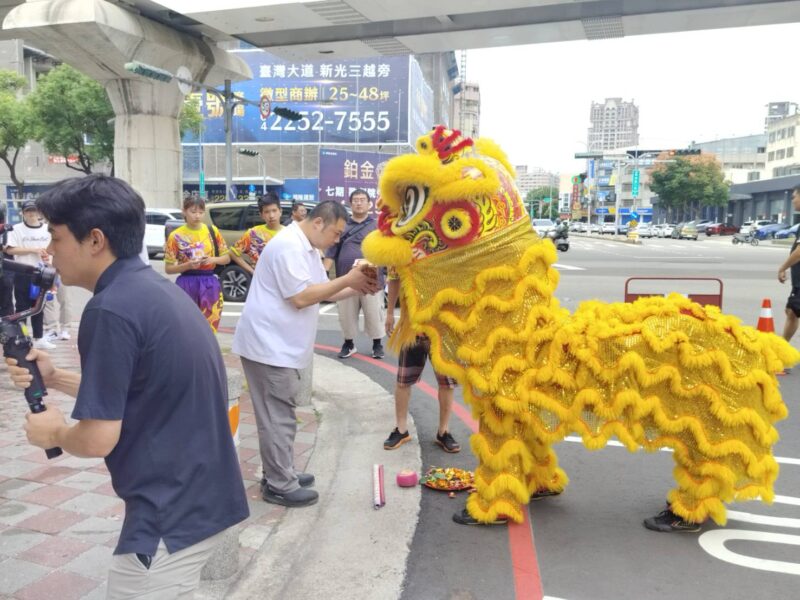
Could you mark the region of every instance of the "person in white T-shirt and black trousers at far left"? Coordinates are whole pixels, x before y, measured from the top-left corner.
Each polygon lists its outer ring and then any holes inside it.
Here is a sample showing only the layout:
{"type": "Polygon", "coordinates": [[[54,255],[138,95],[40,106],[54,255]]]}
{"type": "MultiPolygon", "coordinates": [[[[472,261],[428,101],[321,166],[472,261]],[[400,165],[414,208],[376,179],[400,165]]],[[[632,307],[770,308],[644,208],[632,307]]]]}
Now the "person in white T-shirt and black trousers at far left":
{"type": "MultiPolygon", "coordinates": [[[[50,233],[42,223],[39,209],[33,200],[22,203],[22,223],[14,226],[8,234],[6,252],[14,256],[14,260],[33,267],[47,265],[50,255],[47,246],[50,233]]],[[[37,290],[33,288],[30,276],[17,274],[14,278],[14,299],[17,311],[23,311],[36,301],[37,290]]],[[[33,347],[41,350],[53,350],[56,346],[44,339],[44,315],[39,313],[31,317],[33,329],[33,347]]]]}

